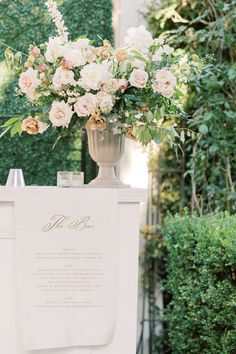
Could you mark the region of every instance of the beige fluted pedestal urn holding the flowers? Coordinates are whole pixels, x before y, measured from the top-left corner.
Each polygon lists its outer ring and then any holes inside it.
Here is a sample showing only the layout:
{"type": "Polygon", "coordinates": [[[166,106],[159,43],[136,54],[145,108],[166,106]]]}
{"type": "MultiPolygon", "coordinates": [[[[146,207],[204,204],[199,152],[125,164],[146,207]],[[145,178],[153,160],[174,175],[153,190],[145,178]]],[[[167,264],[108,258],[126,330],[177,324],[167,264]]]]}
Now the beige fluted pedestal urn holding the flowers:
{"type": "Polygon", "coordinates": [[[124,153],[124,134],[114,134],[112,127],[103,131],[86,130],[90,156],[99,167],[98,176],[89,183],[89,187],[128,188],[115,173],[115,166],[124,153]]]}

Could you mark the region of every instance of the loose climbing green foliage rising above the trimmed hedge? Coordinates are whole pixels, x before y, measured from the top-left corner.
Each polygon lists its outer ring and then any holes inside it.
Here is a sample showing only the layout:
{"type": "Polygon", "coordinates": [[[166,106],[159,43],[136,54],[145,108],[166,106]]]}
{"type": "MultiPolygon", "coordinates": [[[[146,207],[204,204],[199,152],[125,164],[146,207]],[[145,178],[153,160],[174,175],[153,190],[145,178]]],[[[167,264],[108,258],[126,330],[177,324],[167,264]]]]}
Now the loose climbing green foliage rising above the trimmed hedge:
{"type": "Polygon", "coordinates": [[[185,97],[187,127],[200,133],[186,141],[186,199],[199,213],[235,211],[236,0],[163,0],[147,12],[155,35],[208,56],[185,97]],[[210,57],[209,57],[210,56],[210,57]]]}

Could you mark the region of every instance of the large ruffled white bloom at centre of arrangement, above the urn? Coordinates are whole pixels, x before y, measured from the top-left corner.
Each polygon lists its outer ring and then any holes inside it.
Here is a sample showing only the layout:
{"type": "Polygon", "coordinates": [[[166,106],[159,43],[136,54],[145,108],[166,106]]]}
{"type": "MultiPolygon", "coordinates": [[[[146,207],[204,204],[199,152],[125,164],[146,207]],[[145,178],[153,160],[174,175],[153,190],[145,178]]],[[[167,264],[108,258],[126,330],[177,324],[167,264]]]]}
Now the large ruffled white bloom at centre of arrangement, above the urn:
{"type": "Polygon", "coordinates": [[[112,79],[106,63],[90,63],[85,65],[80,72],[79,85],[86,91],[99,90],[103,84],[112,79]]]}

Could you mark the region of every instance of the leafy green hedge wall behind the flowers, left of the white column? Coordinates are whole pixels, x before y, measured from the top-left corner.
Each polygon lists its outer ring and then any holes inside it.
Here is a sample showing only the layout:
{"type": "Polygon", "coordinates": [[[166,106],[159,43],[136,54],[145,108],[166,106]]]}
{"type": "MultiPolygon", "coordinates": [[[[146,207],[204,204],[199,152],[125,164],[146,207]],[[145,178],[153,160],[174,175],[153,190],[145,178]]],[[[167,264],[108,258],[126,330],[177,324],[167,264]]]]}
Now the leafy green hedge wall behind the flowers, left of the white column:
{"type": "MultiPolygon", "coordinates": [[[[55,35],[44,0],[2,0],[0,2],[0,41],[26,52],[30,43],[40,44],[55,35]]],[[[57,1],[72,33],[72,38],[87,35],[96,42],[112,40],[112,1],[57,1]]],[[[11,116],[25,109],[25,101],[15,97],[17,78],[4,65],[5,47],[0,43],[0,117],[11,116]]],[[[55,136],[0,140],[0,184],[5,184],[10,167],[23,168],[27,184],[51,185],[56,171],[80,169],[80,134],[52,150],[55,136]]]]}

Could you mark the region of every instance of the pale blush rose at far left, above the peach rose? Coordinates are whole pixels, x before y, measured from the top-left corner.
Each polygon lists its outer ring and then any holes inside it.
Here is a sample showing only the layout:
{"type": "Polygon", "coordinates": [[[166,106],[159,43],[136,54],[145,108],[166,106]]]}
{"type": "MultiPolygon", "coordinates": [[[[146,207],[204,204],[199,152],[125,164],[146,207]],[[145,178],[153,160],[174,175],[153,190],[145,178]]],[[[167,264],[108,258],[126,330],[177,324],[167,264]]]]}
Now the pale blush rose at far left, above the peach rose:
{"type": "Polygon", "coordinates": [[[38,79],[38,71],[29,68],[20,75],[19,87],[30,99],[37,98],[35,92],[36,88],[40,85],[41,81],[38,79]]]}

